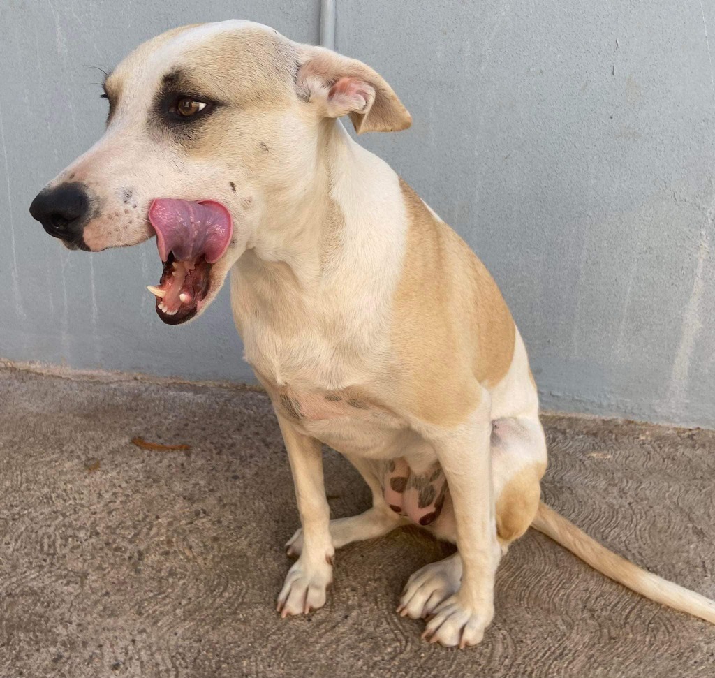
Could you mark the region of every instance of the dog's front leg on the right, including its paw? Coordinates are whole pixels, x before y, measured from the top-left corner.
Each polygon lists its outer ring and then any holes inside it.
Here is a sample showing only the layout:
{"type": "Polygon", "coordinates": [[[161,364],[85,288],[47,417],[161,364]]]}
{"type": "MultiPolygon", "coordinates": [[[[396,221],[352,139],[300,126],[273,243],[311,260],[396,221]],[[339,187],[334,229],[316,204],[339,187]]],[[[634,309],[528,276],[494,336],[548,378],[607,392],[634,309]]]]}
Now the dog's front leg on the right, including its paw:
{"type": "Polygon", "coordinates": [[[494,577],[501,557],[496,538],[490,462],[488,393],[460,426],[433,433],[454,507],[463,574],[459,590],[438,605],[423,638],[467,647],[481,641],[494,616],[494,577]]]}

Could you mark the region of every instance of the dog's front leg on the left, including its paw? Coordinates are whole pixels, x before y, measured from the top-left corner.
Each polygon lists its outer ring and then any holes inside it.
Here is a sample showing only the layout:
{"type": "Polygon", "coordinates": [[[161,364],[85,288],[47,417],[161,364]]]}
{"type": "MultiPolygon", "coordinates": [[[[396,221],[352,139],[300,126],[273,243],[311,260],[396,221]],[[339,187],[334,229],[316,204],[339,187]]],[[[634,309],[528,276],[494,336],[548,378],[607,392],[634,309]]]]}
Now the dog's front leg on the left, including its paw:
{"type": "Polygon", "coordinates": [[[295,498],[303,529],[300,558],[292,565],[278,594],[282,617],[307,614],[325,605],[325,591],[332,581],[330,507],[325,498],[320,441],[302,435],[280,415],[278,423],[288,451],[295,484],[295,498]]]}

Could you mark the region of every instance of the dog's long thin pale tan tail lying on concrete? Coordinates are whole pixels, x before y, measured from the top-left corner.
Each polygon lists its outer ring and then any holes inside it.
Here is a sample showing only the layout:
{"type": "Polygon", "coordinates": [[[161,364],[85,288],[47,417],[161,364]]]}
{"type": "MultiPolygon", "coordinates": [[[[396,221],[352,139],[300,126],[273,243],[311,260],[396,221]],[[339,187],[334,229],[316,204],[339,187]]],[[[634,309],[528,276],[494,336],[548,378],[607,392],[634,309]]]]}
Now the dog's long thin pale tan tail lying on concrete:
{"type": "Polygon", "coordinates": [[[539,532],[551,537],[557,544],[571,551],[593,569],[605,574],[609,579],[618,581],[631,591],[646,596],[651,600],[667,605],[681,612],[687,612],[706,622],[715,624],[715,601],[685,589],[672,581],[642,570],[633,563],[582,532],[578,527],[546,506],[539,503],[538,513],[531,526],[539,532]]]}

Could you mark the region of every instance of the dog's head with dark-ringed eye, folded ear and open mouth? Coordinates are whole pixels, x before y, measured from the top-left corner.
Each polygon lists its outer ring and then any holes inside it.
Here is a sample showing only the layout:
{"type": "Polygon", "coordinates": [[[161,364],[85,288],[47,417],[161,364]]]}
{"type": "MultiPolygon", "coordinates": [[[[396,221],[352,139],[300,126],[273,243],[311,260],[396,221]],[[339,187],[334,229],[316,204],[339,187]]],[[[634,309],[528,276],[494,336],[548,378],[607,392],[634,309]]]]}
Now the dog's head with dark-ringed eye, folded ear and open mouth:
{"type": "Polygon", "coordinates": [[[347,114],[358,132],[411,122],[365,64],[248,21],[149,40],[104,90],[104,136],[30,212],[71,249],[156,235],[164,270],[150,290],[172,325],[201,313],[270,215],[307,195],[327,122],[347,114]]]}

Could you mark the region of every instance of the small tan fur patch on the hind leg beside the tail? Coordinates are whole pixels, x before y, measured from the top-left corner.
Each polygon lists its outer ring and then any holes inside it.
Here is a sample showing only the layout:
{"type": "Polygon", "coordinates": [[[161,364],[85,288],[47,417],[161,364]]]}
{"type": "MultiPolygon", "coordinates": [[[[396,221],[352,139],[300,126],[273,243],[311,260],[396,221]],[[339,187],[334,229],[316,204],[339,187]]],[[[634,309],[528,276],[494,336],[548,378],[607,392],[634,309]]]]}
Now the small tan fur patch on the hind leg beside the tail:
{"type": "Polygon", "coordinates": [[[541,476],[546,463],[532,463],[514,474],[496,501],[496,531],[499,541],[508,544],[521,537],[538,511],[541,476]]]}

